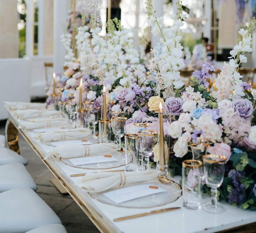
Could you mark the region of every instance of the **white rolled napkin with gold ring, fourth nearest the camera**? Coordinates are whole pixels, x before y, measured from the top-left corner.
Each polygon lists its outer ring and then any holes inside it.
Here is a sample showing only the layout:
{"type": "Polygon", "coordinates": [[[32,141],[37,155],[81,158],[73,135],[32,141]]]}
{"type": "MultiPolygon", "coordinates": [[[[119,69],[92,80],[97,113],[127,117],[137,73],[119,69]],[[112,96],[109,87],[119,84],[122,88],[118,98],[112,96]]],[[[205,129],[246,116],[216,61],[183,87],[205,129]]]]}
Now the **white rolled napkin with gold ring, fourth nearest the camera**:
{"type": "Polygon", "coordinates": [[[69,120],[66,118],[35,118],[27,123],[19,124],[18,128],[27,130],[46,127],[60,127],[67,125],[69,120]]]}

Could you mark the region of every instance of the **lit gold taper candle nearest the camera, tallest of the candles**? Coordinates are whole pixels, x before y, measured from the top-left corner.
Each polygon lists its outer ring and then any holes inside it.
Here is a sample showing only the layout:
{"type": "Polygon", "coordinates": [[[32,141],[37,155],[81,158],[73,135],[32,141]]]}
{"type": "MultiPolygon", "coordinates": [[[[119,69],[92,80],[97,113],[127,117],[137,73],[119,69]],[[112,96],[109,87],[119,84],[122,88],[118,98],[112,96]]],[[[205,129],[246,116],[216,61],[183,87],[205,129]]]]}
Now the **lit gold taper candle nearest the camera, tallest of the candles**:
{"type": "Polygon", "coordinates": [[[165,154],[164,154],[164,124],[163,124],[163,111],[162,103],[159,104],[159,165],[165,165],[165,154]]]}

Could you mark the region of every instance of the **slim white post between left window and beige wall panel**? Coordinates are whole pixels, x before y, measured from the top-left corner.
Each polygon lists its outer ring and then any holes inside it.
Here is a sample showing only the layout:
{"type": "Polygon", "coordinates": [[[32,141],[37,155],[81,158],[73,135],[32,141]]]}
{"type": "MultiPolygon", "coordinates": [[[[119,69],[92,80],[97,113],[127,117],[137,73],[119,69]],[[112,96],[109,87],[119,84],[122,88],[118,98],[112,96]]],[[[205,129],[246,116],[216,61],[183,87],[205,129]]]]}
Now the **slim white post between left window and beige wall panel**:
{"type": "Polygon", "coordinates": [[[44,0],[38,0],[38,55],[44,54],[44,0]]]}

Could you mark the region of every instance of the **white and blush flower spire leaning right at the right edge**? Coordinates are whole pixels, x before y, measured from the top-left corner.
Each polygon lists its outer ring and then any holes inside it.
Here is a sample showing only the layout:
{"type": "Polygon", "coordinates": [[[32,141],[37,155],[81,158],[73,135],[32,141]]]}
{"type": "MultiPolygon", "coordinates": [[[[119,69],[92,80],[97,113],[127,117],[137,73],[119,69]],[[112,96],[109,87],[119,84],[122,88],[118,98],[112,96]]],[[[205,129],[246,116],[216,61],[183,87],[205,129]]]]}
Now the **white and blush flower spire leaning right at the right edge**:
{"type": "Polygon", "coordinates": [[[245,52],[252,52],[252,31],[255,28],[256,20],[253,19],[246,26],[246,30],[241,29],[239,34],[242,36],[240,41],[233,50],[230,51],[231,57],[229,63],[224,63],[221,73],[215,80],[217,91],[212,93],[212,96],[218,102],[224,99],[234,99],[244,96],[242,84],[242,76],[238,73],[239,66],[247,62],[244,56],[245,52]]]}

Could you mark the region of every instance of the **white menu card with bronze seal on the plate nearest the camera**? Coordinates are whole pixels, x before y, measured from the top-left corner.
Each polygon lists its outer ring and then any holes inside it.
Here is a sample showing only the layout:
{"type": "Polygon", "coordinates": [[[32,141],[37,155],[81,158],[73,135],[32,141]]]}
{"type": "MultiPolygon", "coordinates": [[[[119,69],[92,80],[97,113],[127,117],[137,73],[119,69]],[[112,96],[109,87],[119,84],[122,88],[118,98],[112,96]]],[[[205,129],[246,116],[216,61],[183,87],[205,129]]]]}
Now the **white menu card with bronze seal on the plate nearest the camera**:
{"type": "Polygon", "coordinates": [[[155,184],[139,184],[105,192],[103,195],[111,201],[120,204],[125,201],[130,201],[139,197],[145,197],[160,192],[166,192],[166,190],[157,187],[155,184]]]}

